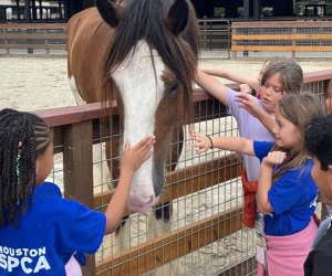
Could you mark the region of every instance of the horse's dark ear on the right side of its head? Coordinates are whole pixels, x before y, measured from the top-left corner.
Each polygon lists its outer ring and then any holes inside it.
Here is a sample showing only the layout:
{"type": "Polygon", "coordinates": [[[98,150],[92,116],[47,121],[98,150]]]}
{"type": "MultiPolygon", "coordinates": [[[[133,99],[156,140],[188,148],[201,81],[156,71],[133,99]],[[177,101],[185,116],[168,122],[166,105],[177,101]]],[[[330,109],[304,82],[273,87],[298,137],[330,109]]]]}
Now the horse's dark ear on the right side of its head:
{"type": "Polygon", "coordinates": [[[181,33],[188,23],[189,7],[186,0],[176,0],[170,7],[166,23],[174,35],[181,33]]]}

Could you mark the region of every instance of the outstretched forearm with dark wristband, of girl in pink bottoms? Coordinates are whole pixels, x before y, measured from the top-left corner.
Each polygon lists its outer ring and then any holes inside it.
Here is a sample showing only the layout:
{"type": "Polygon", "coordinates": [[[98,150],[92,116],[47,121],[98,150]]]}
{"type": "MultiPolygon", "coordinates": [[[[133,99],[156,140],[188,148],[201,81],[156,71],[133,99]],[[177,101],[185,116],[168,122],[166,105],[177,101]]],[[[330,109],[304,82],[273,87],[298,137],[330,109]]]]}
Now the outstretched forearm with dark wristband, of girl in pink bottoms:
{"type": "Polygon", "coordinates": [[[190,136],[196,153],[205,152],[210,148],[218,148],[255,156],[253,141],[242,137],[208,137],[197,132],[191,132],[190,136]]]}

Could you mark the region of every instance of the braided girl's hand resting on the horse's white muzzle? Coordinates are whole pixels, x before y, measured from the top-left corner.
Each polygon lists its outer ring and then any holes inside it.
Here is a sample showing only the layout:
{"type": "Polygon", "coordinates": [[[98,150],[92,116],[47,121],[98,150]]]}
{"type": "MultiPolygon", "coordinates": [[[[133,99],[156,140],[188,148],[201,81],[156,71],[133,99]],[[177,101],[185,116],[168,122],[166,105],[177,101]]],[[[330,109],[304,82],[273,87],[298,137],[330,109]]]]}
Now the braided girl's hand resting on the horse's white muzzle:
{"type": "Polygon", "coordinates": [[[124,145],[122,167],[133,171],[137,170],[152,156],[154,144],[154,136],[146,136],[133,148],[131,148],[131,142],[127,140],[124,145]]]}

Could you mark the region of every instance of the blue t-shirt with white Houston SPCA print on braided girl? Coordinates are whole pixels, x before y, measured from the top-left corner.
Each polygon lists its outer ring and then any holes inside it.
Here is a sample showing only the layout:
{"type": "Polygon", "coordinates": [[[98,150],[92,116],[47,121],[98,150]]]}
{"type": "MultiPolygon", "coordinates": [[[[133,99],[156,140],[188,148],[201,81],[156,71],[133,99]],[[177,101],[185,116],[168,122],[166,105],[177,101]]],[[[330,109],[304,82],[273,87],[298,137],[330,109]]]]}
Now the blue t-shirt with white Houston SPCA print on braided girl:
{"type": "Polygon", "coordinates": [[[95,253],[106,226],[104,213],[65,200],[50,182],[37,187],[33,206],[19,226],[0,226],[0,275],[65,275],[74,252],[95,253]]]}

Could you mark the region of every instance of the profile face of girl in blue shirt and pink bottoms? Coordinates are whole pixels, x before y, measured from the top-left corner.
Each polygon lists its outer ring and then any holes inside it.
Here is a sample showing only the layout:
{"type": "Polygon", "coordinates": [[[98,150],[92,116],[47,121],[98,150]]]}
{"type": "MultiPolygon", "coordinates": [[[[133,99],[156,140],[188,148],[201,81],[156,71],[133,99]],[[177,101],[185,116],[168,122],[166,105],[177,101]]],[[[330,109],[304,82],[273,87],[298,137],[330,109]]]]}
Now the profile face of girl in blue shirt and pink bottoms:
{"type": "Polygon", "coordinates": [[[278,127],[273,129],[276,134],[276,142],[284,149],[295,149],[301,145],[302,136],[300,129],[290,120],[284,118],[279,108],[276,110],[276,120],[278,127]]]}

